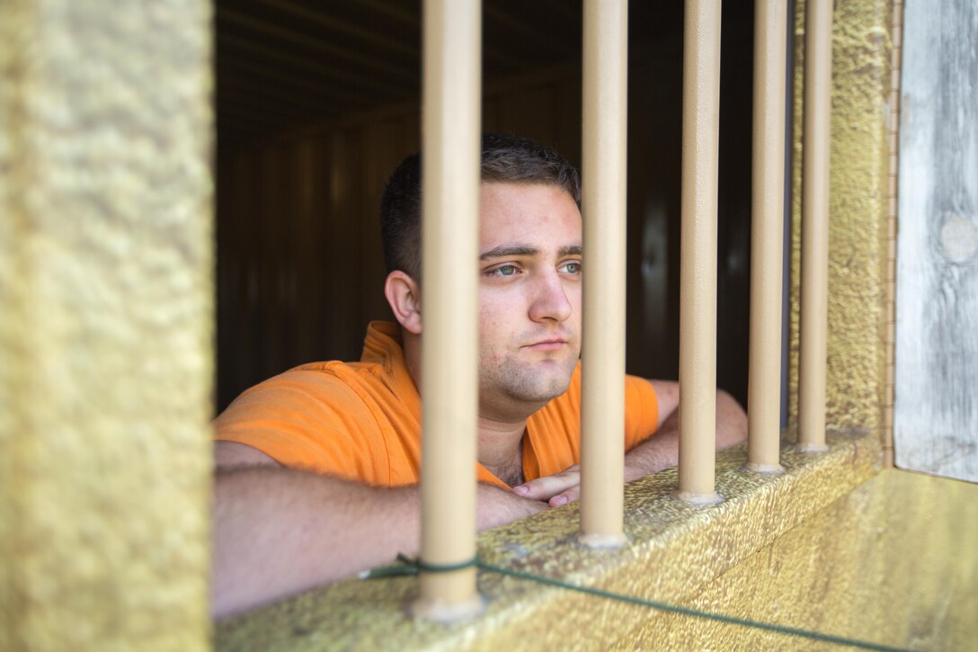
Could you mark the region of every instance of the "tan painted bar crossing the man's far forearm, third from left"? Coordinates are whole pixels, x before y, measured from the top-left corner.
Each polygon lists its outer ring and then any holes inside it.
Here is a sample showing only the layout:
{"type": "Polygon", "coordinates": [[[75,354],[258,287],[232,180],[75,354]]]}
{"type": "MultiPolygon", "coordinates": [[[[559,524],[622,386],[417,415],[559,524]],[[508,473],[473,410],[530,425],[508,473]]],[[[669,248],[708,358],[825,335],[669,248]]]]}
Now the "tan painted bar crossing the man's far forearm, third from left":
{"type": "Polygon", "coordinates": [[[697,504],[722,500],[714,484],[720,7],[719,0],[687,0],[683,46],[678,495],[697,504]]]}

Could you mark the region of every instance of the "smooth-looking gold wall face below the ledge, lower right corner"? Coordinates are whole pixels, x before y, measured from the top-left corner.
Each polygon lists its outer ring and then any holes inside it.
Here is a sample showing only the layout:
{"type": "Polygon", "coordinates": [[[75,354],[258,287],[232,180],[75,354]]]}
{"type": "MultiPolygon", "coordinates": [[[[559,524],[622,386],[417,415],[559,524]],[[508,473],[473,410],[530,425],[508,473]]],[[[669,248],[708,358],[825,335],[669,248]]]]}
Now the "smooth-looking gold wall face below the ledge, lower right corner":
{"type": "MultiPolygon", "coordinates": [[[[685,606],[913,650],[978,650],[978,485],[889,470],[685,606]]],[[[839,650],[663,615],[615,649],[839,650]]]]}

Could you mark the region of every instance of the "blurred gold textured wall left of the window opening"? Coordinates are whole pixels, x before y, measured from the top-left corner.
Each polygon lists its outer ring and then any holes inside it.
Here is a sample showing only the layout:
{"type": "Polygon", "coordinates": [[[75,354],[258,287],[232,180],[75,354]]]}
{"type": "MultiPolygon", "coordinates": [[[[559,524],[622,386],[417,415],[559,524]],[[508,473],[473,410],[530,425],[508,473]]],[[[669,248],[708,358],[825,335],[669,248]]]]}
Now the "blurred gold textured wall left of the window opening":
{"type": "Polygon", "coordinates": [[[209,12],[0,3],[0,649],[207,644],[209,12]]]}

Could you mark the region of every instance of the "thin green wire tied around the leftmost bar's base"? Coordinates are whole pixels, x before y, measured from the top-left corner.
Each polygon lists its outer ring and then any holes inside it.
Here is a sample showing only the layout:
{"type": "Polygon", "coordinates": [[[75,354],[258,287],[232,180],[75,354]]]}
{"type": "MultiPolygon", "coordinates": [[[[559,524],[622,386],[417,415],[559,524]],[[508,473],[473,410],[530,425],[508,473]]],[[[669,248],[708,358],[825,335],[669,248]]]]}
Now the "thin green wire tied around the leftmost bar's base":
{"type": "Polygon", "coordinates": [[[787,634],[789,636],[800,636],[802,638],[811,638],[813,640],[820,640],[826,643],[834,643],[836,645],[849,645],[851,647],[858,647],[865,650],[882,650],[883,652],[910,652],[905,648],[890,647],[888,645],[880,645],[879,643],[870,643],[855,638],[846,638],[844,636],[833,636],[831,634],[825,634],[818,631],[810,631],[808,629],[789,628],[783,625],[771,625],[769,623],[761,623],[758,621],[751,621],[744,618],[734,618],[733,616],[725,616],[723,614],[713,614],[707,611],[699,611],[698,609],[689,609],[688,607],[679,607],[671,604],[666,604],[664,602],[646,600],[645,598],[635,597],[634,595],[614,593],[611,591],[602,590],[600,588],[593,588],[591,586],[581,586],[579,584],[563,582],[562,580],[556,580],[554,578],[547,578],[540,575],[533,575],[531,573],[524,573],[522,571],[514,571],[512,569],[504,568],[502,566],[496,566],[494,564],[488,564],[482,561],[481,559],[478,559],[477,557],[459,564],[446,564],[446,565],[425,564],[419,560],[408,559],[404,555],[398,555],[397,558],[402,563],[394,564],[391,566],[382,566],[380,568],[367,571],[361,574],[360,577],[365,579],[391,578],[396,576],[418,575],[418,573],[422,571],[425,573],[450,573],[452,571],[461,571],[462,569],[475,566],[484,571],[489,571],[491,573],[499,573],[500,575],[506,575],[511,578],[516,578],[518,580],[529,580],[530,582],[538,582],[550,586],[557,586],[559,588],[567,588],[570,590],[579,591],[581,593],[586,593],[588,595],[594,595],[609,600],[617,600],[619,602],[635,604],[642,607],[648,607],[651,609],[658,609],[660,611],[668,611],[674,614],[682,614],[684,616],[692,616],[694,618],[704,618],[711,621],[718,621],[720,623],[727,623],[729,625],[739,625],[745,628],[775,631],[778,633],[787,634]]]}

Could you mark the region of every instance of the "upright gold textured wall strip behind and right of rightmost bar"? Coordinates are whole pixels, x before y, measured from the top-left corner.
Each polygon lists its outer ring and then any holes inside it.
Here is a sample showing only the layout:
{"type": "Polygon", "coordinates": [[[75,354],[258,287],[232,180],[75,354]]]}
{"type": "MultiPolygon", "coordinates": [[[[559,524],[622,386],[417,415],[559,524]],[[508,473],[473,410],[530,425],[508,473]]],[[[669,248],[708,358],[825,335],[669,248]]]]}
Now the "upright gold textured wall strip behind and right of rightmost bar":
{"type": "MultiPolygon", "coordinates": [[[[805,3],[795,7],[790,409],[798,409],[805,3]]],[[[892,6],[836,2],[833,17],[826,427],[879,432],[885,402],[892,6]]]]}

